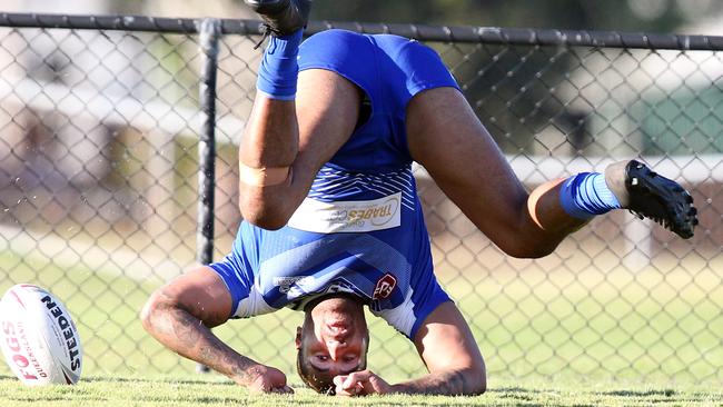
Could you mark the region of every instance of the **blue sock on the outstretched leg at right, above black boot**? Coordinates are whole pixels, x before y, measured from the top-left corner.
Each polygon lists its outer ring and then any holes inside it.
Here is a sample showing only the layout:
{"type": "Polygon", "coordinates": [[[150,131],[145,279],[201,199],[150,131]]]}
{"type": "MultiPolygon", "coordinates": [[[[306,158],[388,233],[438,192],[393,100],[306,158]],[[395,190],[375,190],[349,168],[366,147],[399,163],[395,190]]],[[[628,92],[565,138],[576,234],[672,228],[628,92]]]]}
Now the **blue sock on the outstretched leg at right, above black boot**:
{"type": "Polygon", "coordinates": [[[585,220],[621,207],[600,172],[581,172],[567,178],[559,191],[559,202],[567,215],[585,220]]]}

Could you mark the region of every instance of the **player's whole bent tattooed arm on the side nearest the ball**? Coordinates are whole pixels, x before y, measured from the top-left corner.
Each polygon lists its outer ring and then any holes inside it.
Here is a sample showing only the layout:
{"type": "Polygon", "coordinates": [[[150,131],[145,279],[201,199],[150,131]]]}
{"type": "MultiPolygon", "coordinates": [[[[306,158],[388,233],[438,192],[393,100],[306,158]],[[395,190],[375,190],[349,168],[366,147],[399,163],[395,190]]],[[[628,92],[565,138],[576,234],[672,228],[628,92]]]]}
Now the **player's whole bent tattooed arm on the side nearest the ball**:
{"type": "Polygon", "coordinates": [[[141,321],[169,349],[250,390],[290,393],[280,370],[238,354],[211,332],[210,328],[224,324],[230,311],[226,285],[202,267],[153,292],[141,311],[141,321]]]}

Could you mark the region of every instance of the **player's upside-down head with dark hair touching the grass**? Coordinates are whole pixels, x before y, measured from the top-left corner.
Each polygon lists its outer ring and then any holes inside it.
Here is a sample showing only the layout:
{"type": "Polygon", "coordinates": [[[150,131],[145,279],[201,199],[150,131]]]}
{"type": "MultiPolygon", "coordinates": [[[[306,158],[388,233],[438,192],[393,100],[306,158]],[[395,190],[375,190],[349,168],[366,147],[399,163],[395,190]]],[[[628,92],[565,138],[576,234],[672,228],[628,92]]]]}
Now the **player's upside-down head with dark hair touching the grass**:
{"type": "Polygon", "coordinates": [[[296,368],[318,393],[334,393],[334,377],[366,369],[369,330],[363,305],[350,296],[325,297],[305,308],[296,331],[296,368]]]}

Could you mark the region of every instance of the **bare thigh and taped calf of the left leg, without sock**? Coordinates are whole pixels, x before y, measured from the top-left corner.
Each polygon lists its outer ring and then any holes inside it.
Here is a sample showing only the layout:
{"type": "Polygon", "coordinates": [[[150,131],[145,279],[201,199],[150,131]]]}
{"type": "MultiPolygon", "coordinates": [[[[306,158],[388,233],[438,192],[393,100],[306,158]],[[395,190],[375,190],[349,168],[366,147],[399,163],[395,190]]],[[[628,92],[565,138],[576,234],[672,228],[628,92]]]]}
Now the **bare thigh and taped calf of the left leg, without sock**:
{"type": "Polygon", "coordinates": [[[239,208],[266,229],[286,225],[314,177],[356,125],[358,88],[337,73],[299,73],[296,102],[257,95],[239,148],[239,208]]]}

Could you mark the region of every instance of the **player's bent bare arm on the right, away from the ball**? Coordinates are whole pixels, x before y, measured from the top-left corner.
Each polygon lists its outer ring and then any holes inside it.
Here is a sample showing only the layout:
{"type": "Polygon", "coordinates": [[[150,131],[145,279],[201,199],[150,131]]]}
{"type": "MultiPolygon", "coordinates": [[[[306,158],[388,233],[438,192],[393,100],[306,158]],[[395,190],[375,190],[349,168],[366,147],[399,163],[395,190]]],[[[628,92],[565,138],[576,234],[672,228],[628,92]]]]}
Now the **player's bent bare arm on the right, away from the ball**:
{"type": "Polygon", "coordinates": [[[485,391],[485,363],[469,326],[454,302],[439,305],[414,338],[429,374],[389,385],[369,370],[335,378],[337,395],[427,394],[477,395],[485,391]]]}

